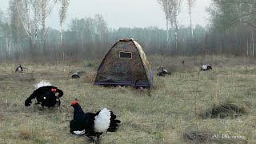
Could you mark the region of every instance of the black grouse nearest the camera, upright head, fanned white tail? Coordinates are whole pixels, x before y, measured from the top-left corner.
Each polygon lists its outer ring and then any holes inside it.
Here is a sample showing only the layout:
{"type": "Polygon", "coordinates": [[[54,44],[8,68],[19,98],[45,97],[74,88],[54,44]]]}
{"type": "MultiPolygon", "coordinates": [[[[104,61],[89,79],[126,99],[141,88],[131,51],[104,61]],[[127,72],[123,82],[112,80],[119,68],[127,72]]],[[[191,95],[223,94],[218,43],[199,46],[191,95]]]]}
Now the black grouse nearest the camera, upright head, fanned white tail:
{"type": "Polygon", "coordinates": [[[106,108],[94,114],[84,113],[77,100],[72,102],[71,106],[74,108],[73,120],[70,121],[71,134],[86,134],[90,140],[95,141],[93,137],[99,138],[106,131],[114,132],[118,129],[120,121],[106,108]]]}

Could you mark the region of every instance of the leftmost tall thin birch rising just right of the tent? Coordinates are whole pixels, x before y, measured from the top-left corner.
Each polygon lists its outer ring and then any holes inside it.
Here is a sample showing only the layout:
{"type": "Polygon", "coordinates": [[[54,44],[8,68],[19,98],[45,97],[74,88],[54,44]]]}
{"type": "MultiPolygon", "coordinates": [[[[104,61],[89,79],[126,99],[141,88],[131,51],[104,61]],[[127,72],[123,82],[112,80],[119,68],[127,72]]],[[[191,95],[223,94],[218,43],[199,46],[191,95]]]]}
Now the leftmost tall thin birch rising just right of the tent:
{"type": "Polygon", "coordinates": [[[158,3],[162,6],[162,10],[166,16],[166,41],[167,49],[170,49],[170,34],[169,34],[169,21],[170,21],[170,0],[158,0],[158,3]]]}

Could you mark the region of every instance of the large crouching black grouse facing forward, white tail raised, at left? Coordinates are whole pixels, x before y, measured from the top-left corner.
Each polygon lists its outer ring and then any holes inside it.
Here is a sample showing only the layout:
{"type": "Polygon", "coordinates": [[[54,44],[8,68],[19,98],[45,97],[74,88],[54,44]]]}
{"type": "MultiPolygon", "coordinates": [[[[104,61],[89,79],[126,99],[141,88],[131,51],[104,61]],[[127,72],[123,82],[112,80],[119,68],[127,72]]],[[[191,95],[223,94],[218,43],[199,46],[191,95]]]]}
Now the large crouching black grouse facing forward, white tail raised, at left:
{"type": "Polygon", "coordinates": [[[59,102],[60,106],[60,99],[63,95],[63,91],[58,89],[55,86],[51,86],[49,82],[40,82],[38,83],[37,90],[34,90],[34,92],[30,95],[29,98],[25,101],[25,106],[30,106],[32,103],[32,99],[36,98],[37,103],[41,104],[43,106],[52,107],[57,102],[59,102]],[[56,95],[58,93],[58,95],[56,95]]]}

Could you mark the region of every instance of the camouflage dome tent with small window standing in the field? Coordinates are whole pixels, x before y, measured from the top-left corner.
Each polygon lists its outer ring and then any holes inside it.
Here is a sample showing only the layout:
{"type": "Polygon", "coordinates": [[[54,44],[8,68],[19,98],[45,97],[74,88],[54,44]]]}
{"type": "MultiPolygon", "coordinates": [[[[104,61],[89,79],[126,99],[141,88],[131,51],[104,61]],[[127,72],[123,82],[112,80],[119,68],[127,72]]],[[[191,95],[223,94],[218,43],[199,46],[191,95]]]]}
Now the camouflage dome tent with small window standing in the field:
{"type": "Polygon", "coordinates": [[[142,46],[133,38],[116,42],[98,67],[94,85],[151,88],[152,70],[142,46]]]}

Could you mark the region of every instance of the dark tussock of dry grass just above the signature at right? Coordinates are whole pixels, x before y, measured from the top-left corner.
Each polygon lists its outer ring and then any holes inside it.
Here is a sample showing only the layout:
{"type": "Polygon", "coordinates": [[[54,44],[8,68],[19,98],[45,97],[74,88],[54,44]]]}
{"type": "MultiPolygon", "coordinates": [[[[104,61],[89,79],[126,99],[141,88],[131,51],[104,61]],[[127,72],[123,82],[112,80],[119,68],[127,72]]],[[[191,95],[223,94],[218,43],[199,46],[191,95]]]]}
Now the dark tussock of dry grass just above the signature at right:
{"type": "Polygon", "coordinates": [[[199,114],[199,116],[202,118],[236,118],[247,112],[248,108],[246,106],[224,103],[218,106],[214,105],[210,110],[206,110],[206,112],[199,114]]]}

